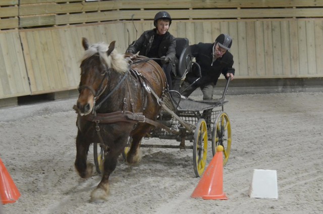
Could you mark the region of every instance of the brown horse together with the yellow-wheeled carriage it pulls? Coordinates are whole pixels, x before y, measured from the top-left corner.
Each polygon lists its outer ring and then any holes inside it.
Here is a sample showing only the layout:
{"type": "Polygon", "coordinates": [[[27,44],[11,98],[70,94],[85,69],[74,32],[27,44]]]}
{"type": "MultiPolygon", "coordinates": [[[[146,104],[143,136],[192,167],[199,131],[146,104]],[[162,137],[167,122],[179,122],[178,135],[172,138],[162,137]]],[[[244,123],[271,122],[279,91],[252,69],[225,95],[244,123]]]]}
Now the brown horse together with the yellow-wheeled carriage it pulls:
{"type": "Polygon", "coordinates": [[[229,80],[220,99],[196,101],[178,92],[181,79],[194,64],[187,39],[177,40],[179,61],[173,82],[176,90],[172,91],[167,90],[163,70],[154,61],[136,55],[126,55],[127,61],[121,60],[122,55],[116,53],[114,45],[112,42],[109,47],[90,46],[83,39],[86,51],[81,64],[80,96],[75,105],[78,113],[75,167],[83,178],[91,176],[94,170],[103,174],[91,193],[91,201],[106,200],[107,180],[120,153],[128,163],[138,163],[140,147],[193,149],[194,172],[199,177],[204,172],[211,141],[213,155],[218,145],[224,146],[225,165],[231,149],[231,124],[224,112],[229,80]],[[124,62],[127,64],[123,65],[124,62]],[[180,143],[143,144],[143,137],[180,143]],[[95,166],[86,163],[91,143],[95,166]]]}

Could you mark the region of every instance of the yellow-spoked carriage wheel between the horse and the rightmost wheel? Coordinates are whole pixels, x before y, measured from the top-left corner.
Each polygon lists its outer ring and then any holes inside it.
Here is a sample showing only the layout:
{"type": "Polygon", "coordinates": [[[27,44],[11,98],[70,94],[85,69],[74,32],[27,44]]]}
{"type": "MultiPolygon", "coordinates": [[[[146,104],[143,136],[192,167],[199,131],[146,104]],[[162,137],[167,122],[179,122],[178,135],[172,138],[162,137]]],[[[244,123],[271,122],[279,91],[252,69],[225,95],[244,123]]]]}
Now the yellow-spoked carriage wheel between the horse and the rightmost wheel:
{"type": "Polygon", "coordinates": [[[204,119],[196,124],[193,142],[193,166],[196,177],[201,177],[206,165],[207,154],[207,128],[204,119]]]}

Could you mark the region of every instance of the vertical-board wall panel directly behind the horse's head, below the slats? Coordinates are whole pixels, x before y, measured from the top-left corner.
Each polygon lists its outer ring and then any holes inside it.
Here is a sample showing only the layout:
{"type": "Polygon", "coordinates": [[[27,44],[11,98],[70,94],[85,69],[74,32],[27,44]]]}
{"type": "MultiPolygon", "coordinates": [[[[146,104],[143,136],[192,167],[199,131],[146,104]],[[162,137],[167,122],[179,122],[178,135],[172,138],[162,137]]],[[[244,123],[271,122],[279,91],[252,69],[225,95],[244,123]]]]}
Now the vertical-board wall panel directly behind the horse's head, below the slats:
{"type": "Polygon", "coordinates": [[[123,23],[21,31],[31,94],[75,89],[79,84],[82,37],[90,43],[116,40],[125,52],[123,23]]]}

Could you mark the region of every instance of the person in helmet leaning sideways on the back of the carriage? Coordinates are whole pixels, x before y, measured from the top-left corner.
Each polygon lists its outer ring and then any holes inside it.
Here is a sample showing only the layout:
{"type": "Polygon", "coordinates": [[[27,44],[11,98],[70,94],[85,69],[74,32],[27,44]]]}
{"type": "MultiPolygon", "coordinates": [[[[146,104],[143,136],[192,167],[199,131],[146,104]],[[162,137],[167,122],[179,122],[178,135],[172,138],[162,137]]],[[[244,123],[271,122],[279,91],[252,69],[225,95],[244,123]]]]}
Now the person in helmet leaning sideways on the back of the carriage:
{"type": "Polygon", "coordinates": [[[213,88],[217,84],[221,74],[226,79],[234,79],[235,69],[233,56],[229,52],[232,45],[232,38],[227,34],[220,34],[214,43],[198,43],[190,45],[192,55],[201,68],[201,78],[192,72],[188,73],[181,85],[180,93],[189,96],[196,88],[201,88],[203,99],[212,99],[213,88]],[[199,78],[199,79],[198,79],[199,78]],[[196,82],[195,82],[196,81],[196,82]],[[195,83],[194,83],[195,82],[195,83]]]}

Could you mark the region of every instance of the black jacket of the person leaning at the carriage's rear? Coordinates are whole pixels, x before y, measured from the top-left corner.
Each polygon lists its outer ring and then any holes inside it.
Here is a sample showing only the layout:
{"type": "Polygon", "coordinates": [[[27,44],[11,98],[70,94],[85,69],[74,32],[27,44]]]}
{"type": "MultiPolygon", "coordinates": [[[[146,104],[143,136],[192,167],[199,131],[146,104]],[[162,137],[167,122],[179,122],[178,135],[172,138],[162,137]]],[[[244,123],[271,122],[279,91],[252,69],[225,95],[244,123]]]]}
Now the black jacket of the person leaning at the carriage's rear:
{"type": "MultiPolygon", "coordinates": [[[[216,85],[221,73],[225,77],[227,73],[232,73],[233,75],[235,73],[235,69],[233,67],[233,56],[229,51],[227,51],[222,58],[213,62],[213,45],[214,43],[202,42],[190,45],[192,55],[195,57],[196,63],[201,68],[202,77],[195,83],[196,86],[204,86],[212,82],[216,85]]],[[[194,68],[193,72],[186,75],[186,81],[189,83],[193,83],[197,78],[198,76],[196,75],[196,72],[194,72],[194,68]]]]}

